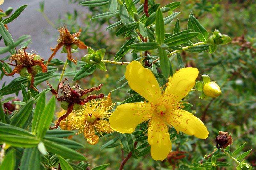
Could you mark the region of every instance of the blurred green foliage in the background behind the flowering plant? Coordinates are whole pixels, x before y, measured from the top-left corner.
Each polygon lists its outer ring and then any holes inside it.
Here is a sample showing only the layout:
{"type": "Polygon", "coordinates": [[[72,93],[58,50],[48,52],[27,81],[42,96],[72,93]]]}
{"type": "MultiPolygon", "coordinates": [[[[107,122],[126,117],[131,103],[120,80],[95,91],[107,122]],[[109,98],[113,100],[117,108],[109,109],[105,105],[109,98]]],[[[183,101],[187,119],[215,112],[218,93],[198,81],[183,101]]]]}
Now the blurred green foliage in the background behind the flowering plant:
{"type": "MultiPolygon", "coordinates": [[[[81,1],[69,1],[69,3],[76,4],[79,4],[79,2],[81,1]]],[[[181,0],[180,2],[181,5],[176,10],[181,11],[179,18],[184,18],[180,20],[181,30],[186,28],[189,13],[193,11],[194,16],[208,31],[211,32],[211,30],[218,29],[232,38],[232,43],[218,47],[213,54],[207,52],[182,53],[186,67],[197,67],[200,75],[209,75],[221,87],[222,95],[215,99],[199,99],[200,93],[196,91],[188,96],[189,103],[193,104],[192,112],[203,120],[210,132],[210,136],[206,140],[201,140],[179,134],[178,138],[172,139],[172,150],[179,152],[177,152],[177,155],[176,153],[169,155],[168,161],[155,162],[150,157],[150,154],[147,154],[139,157],[139,159],[128,161],[125,169],[176,169],[178,167],[183,169],[182,167],[185,167],[191,160],[196,160],[212,152],[215,145],[214,139],[218,135],[218,131],[228,131],[232,134],[234,143],[231,145],[231,149],[237,148],[246,142],[244,150],[252,149],[247,160],[255,168],[256,3],[250,0],[181,0]],[[190,139],[188,140],[188,138],[190,139]]],[[[170,2],[163,0],[157,1],[157,3],[161,3],[164,6],[170,2]]],[[[64,24],[67,25],[71,33],[77,32],[79,28],[82,28],[83,32],[80,39],[93,49],[106,48],[105,59],[113,59],[113,56],[125,41],[122,36],[115,36],[116,30],[121,26],[117,26],[110,31],[104,31],[108,25],[116,22],[117,18],[116,20],[114,18],[90,20],[96,14],[107,12],[108,6],[89,7],[89,9],[89,13],[74,10],[74,13],[67,13],[64,16],[60,16],[57,21],[52,22],[54,22],[56,28],[64,24]]],[[[174,24],[175,20],[172,25],[166,27],[166,32],[172,32],[174,24]]],[[[132,54],[126,54],[125,60],[131,61],[132,54]]],[[[175,60],[173,63],[177,62],[175,60]]],[[[177,64],[173,65],[177,66],[177,64]]],[[[118,82],[118,80],[124,75],[125,66],[111,64],[106,66],[107,72],[97,70],[91,76],[79,80],[78,83],[85,87],[103,83],[104,88],[102,88],[101,92],[105,94],[121,86],[124,80],[121,82],[118,82]]],[[[72,67],[75,66],[73,65],[72,67]]],[[[68,68],[70,69],[69,71],[72,71],[72,67],[68,68]]],[[[179,68],[174,67],[173,69],[177,70],[179,68]]],[[[200,76],[198,81],[201,81],[200,76]]],[[[118,102],[128,98],[128,89],[129,87],[126,86],[113,92],[111,95],[112,100],[118,102]]],[[[173,130],[173,132],[175,131],[173,130]]],[[[86,153],[92,167],[102,163],[110,163],[111,169],[119,167],[119,162],[121,161],[120,146],[99,151],[99,147],[108,141],[104,137],[101,137],[101,140],[96,145],[86,143],[83,135],[74,136],[73,139],[84,143],[86,146],[84,153],[86,153]]],[[[231,159],[227,159],[226,162],[232,165],[226,167],[226,169],[234,169],[236,167],[231,159]]]]}

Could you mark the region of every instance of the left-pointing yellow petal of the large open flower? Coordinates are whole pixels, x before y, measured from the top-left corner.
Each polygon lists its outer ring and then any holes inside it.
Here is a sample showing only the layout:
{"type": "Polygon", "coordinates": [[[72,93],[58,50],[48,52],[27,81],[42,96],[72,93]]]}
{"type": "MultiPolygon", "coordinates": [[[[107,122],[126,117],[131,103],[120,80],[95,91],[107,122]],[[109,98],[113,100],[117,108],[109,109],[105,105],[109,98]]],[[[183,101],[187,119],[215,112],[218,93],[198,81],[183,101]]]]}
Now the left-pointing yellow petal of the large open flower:
{"type": "Polygon", "coordinates": [[[150,103],[126,103],[117,106],[110,115],[110,126],[120,133],[132,133],[136,126],[152,116],[153,109],[150,103]]]}

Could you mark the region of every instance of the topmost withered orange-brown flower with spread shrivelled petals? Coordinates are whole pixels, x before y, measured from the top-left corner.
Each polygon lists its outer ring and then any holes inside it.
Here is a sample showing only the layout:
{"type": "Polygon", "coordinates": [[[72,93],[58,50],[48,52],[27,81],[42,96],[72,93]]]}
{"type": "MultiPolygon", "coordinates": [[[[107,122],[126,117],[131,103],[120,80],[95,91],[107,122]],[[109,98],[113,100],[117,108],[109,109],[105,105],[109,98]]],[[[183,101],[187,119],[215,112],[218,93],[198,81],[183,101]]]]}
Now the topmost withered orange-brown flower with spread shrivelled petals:
{"type": "Polygon", "coordinates": [[[81,29],[79,30],[79,32],[76,32],[74,34],[70,34],[70,32],[68,31],[68,29],[66,28],[66,26],[61,27],[60,29],[58,29],[58,31],[60,32],[60,38],[57,40],[58,44],[56,45],[55,48],[51,48],[51,50],[53,51],[52,55],[50,56],[50,58],[48,59],[48,62],[50,62],[52,60],[52,58],[56,55],[57,51],[64,46],[65,50],[64,52],[67,53],[67,58],[68,60],[74,62],[76,64],[76,60],[74,60],[72,58],[71,55],[71,48],[73,49],[86,49],[87,46],[78,39],[78,37],[80,36],[81,33],[81,29]]]}

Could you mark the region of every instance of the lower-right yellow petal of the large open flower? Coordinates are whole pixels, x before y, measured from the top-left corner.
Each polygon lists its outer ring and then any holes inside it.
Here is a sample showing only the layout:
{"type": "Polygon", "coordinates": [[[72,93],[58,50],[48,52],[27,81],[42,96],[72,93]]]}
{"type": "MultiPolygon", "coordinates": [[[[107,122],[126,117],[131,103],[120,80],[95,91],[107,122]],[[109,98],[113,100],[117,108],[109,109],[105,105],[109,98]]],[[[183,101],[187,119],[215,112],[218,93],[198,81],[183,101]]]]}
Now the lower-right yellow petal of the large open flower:
{"type": "Polygon", "coordinates": [[[166,121],[177,131],[182,131],[197,138],[206,139],[209,132],[204,123],[188,111],[177,109],[166,115],[166,121]],[[168,117],[168,118],[167,118],[168,117]]]}

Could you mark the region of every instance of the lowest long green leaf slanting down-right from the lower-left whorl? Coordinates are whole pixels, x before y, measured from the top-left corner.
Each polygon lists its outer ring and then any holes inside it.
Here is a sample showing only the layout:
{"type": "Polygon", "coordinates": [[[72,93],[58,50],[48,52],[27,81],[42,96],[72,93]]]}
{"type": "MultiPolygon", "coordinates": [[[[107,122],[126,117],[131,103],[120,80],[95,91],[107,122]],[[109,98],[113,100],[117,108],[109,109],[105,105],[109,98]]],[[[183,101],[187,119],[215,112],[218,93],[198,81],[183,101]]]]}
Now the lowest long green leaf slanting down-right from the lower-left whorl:
{"type": "Polygon", "coordinates": [[[55,142],[48,141],[45,139],[43,139],[42,141],[44,142],[44,145],[49,152],[52,152],[58,156],[61,156],[63,158],[67,158],[67,159],[69,158],[72,160],[87,160],[84,157],[84,155],[82,155],[81,153],[76,152],[75,150],[70,149],[66,146],[59,145],[55,142]]]}

